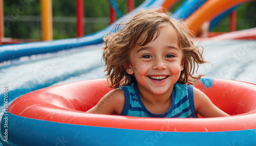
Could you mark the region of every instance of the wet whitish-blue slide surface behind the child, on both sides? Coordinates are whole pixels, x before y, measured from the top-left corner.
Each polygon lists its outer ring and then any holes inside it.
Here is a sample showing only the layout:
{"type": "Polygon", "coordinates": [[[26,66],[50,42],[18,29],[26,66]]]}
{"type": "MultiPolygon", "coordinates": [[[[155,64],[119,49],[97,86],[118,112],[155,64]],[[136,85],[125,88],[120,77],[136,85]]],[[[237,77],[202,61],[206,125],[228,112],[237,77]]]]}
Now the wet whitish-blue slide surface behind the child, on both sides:
{"type": "MultiPolygon", "coordinates": [[[[256,41],[218,40],[201,43],[205,48],[204,57],[211,64],[204,64],[199,72],[207,77],[256,84],[256,41]]],[[[9,100],[12,101],[22,94],[44,87],[104,78],[100,50],[103,45],[13,60],[10,65],[1,67],[0,86],[2,89],[9,88],[9,100]]],[[[3,106],[3,101],[0,103],[3,106]]]]}

